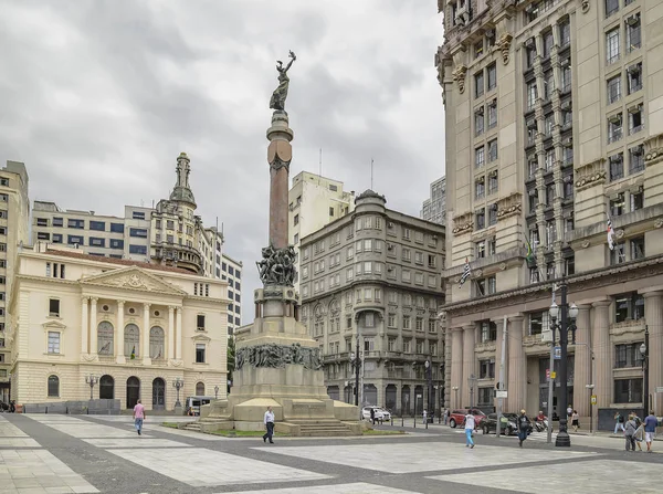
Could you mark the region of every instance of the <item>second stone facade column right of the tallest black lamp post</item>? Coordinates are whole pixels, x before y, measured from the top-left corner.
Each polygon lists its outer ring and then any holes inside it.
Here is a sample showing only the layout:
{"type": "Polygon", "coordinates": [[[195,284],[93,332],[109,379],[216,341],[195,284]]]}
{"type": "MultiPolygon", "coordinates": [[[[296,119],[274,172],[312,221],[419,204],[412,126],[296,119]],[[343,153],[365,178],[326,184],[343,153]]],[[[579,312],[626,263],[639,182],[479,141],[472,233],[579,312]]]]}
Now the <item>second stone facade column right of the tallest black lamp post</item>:
{"type": "MultiPolygon", "coordinates": [[[[591,335],[596,357],[594,395],[597,413],[612,402],[612,351],[610,345],[610,301],[594,302],[593,332],[591,335]]],[[[561,413],[561,412],[560,412],[561,413]]]]}

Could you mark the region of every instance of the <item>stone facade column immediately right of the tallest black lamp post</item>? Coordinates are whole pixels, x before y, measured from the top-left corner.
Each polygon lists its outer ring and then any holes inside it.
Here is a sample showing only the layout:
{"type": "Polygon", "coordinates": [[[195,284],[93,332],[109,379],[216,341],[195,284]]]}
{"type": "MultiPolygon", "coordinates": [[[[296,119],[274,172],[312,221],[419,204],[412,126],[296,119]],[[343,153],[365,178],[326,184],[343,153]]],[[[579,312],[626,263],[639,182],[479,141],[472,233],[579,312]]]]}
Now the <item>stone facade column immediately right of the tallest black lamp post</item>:
{"type": "Polygon", "coordinates": [[[589,398],[591,390],[587,385],[592,385],[591,375],[591,325],[589,312],[591,305],[578,306],[576,319],[576,347],[573,369],[573,408],[580,417],[589,417],[589,398]]]}

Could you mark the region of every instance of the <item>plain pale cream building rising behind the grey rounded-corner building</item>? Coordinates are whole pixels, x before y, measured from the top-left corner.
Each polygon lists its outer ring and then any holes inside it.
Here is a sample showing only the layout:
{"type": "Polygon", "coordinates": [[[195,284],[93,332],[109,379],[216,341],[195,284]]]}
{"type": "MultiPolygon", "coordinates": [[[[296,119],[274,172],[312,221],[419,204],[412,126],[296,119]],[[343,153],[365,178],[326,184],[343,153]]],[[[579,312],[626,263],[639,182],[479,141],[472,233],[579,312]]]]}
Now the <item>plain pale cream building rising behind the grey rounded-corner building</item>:
{"type": "MultiPolygon", "coordinates": [[[[343,190],[344,183],[319,175],[302,171],[293,178],[288,191],[288,234],[295,252],[299,252],[299,241],[330,222],[350,213],[355,208],[355,192],[343,190]]],[[[301,263],[297,256],[297,273],[301,263]]],[[[295,280],[299,291],[299,278],[295,280]]]]}

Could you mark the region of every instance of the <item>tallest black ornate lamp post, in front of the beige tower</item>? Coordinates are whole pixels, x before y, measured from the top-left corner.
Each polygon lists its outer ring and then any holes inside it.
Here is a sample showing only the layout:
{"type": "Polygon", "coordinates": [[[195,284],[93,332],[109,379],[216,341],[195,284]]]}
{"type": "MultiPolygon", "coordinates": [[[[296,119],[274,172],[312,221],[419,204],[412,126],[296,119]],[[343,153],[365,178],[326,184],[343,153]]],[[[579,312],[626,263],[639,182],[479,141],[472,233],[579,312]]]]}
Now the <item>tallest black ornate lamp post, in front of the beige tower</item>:
{"type": "Polygon", "coordinates": [[[569,329],[573,332],[573,343],[576,341],[576,317],[578,317],[578,307],[576,304],[571,304],[569,307],[567,303],[567,285],[566,282],[561,281],[561,307],[557,306],[555,301],[550,305],[550,319],[552,319],[552,324],[550,325],[552,329],[552,341],[555,341],[555,330],[559,330],[559,399],[557,402],[561,409],[561,413],[559,416],[559,432],[557,433],[557,439],[555,440],[556,446],[566,446],[569,448],[571,445],[571,438],[569,437],[569,432],[567,430],[568,427],[568,418],[567,418],[567,347],[569,344],[569,329]],[[561,314],[560,314],[561,312],[561,314]],[[559,324],[557,323],[557,318],[559,317],[559,324]],[[571,322],[569,325],[568,318],[570,317],[571,322]]]}

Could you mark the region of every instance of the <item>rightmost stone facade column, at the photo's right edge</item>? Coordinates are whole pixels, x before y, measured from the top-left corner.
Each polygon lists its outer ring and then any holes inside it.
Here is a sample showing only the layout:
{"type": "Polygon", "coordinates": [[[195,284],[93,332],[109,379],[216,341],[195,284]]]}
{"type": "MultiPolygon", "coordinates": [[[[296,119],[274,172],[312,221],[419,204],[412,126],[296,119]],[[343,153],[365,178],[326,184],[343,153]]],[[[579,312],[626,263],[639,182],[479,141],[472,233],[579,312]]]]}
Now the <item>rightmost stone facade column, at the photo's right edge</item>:
{"type": "MultiPolygon", "coordinates": [[[[663,312],[661,304],[663,292],[644,294],[644,319],[650,332],[649,338],[649,408],[656,417],[663,414],[663,395],[657,395],[654,407],[655,388],[663,386],[663,312]]],[[[649,413],[649,410],[645,410],[649,413]]]]}

